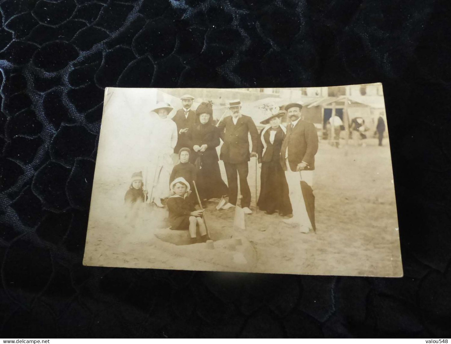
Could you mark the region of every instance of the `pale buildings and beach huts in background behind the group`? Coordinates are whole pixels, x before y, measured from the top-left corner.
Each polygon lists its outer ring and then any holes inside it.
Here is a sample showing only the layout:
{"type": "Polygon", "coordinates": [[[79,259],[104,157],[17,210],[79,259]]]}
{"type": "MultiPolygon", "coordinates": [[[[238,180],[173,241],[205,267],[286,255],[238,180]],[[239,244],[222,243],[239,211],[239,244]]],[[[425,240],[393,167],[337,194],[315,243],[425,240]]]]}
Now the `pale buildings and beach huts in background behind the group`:
{"type": "MultiPolygon", "coordinates": [[[[385,114],[381,83],[332,86],[332,87],[263,87],[263,88],[161,88],[158,101],[170,103],[175,109],[181,108],[179,97],[185,93],[194,96],[193,109],[202,101],[213,101],[213,117],[218,120],[228,115],[227,102],[239,99],[243,113],[251,116],[255,123],[268,116],[268,111],[277,111],[284,105],[297,102],[304,105],[304,119],[312,122],[318,130],[325,129],[332,115],[347,118],[362,117],[368,128],[375,128],[377,117],[385,114]]],[[[287,119],[283,119],[285,122],[287,119]]]]}

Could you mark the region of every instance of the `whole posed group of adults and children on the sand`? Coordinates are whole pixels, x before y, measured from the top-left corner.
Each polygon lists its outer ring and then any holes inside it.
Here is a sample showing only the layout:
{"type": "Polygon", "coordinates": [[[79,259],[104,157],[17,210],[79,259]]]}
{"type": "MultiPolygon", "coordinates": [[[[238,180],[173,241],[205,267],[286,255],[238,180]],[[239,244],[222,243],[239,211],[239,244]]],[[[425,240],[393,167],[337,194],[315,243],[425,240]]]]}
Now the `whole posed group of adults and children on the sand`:
{"type": "Polygon", "coordinates": [[[188,229],[193,242],[198,229],[205,241],[202,207],[208,200],[228,197],[228,202],[220,203],[220,210],[238,206],[239,183],[239,206],[245,214],[252,214],[247,179],[249,161],[256,158],[261,166],[258,208],[267,215],[278,212],[281,220],[299,225],[303,233],[315,229],[312,183],[318,134],[313,124],[302,119],[302,105],[291,103],[270,115],[261,122],[264,128],[258,133],[253,119],[241,113],[239,100],[230,101],[230,115],[223,115],[214,125],[211,101],[193,110],[193,96],[180,99],[183,107],[172,119],[168,118],[173,110],[169,104],[158,103],[152,109],[158,117],[148,130],[145,168],[133,173],[126,204],[133,207],[146,202],[164,208],[166,200],[170,228],[188,229]],[[286,128],[281,124],[285,115],[290,121],[286,128]],[[218,156],[216,147],[221,141],[218,156]],[[196,210],[196,205],[201,210],[196,210]]]}

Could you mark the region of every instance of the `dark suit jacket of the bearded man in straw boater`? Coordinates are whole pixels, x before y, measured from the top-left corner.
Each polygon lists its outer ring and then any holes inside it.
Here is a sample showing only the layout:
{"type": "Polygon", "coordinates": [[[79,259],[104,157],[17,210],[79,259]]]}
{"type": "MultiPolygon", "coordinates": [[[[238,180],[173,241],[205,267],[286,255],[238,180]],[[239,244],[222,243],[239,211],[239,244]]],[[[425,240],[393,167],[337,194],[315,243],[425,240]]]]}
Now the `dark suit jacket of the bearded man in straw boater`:
{"type": "Polygon", "coordinates": [[[252,151],[257,152],[258,131],[252,118],[241,115],[233,123],[232,116],[227,116],[219,125],[221,140],[224,144],[221,147],[220,159],[231,164],[239,164],[250,160],[249,137],[251,134],[252,151]]]}

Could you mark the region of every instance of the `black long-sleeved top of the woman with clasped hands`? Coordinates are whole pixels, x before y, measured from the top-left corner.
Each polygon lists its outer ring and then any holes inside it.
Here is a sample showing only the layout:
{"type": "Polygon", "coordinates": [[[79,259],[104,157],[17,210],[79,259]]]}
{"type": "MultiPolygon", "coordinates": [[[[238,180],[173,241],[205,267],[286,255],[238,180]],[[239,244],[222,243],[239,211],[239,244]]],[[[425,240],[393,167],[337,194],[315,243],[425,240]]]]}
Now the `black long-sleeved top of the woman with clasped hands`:
{"type": "Polygon", "coordinates": [[[216,152],[216,147],[219,146],[221,141],[219,140],[219,130],[210,123],[195,124],[191,130],[188,131],[188,148],[191,149],[191,155],[189,156],[189,161],[194,163],[198,157],[198,152],[194,151],[193,147],[198,145],[207,145],[207,149],[202,152],[204,159],[208,161],[218,161],[218,153],[216,152]]]}

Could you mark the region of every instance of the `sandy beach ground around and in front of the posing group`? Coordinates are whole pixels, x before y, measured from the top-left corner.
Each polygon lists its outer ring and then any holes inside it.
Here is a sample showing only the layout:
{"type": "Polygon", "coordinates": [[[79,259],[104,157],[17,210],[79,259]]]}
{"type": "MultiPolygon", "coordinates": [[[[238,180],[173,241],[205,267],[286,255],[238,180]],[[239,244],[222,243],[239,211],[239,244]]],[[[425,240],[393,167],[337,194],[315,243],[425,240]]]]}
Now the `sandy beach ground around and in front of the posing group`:
{"type": "MultiPolygon", "coordinates": [[[[234,209],[217,211],[219,200],[207,204],[206,221],[214,250],[206,249],[205,243],[175,245],[165,241],[165,231],[175,232],[167,229],[166,209],[140,205],[132,226],[133,221],[124,219],[128,180],[96,180],[83,262],[199,271],[400,276],[390,149],[388,142],[377,147],[375,139],[365,141],[366,147],[350,143],[340,149],[320,142],[313,183],[316,233],[300,233],[298,228],[285,225],[278,214],[266,215],[255,208],[256,164],[251,159],[248,181],[253,214],[245,217],[246,229],[240,233],[234,230],[234,209]],[[227,240],[239,236],[243,245],[230,248],[227,240]],[[247,262],[237,261],[237,253],[247,262]]],[[[226,181],[221,161],[220,167],[226,181]]],[[[257,171],[259,188],[258,166],[257,171]]]]}

